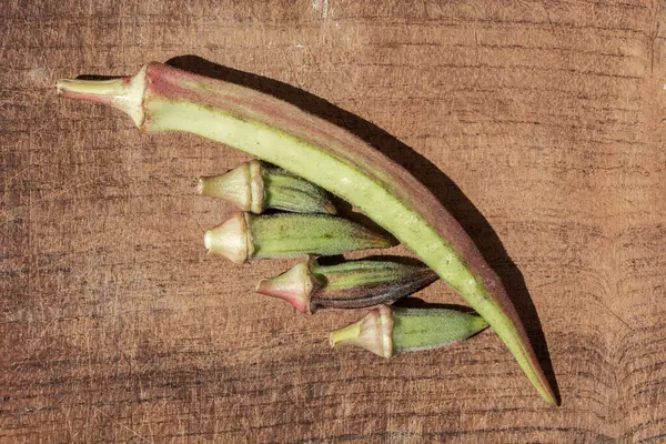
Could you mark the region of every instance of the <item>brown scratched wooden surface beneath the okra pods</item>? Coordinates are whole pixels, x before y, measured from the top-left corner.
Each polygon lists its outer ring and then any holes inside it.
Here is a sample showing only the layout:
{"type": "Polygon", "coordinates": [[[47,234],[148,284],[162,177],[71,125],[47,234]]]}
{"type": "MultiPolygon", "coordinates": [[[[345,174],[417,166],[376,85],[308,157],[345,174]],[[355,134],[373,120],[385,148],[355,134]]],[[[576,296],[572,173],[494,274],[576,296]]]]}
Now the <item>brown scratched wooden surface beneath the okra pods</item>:
{"type": "MultiPolygon", "coordinates": [[[[663,8],[3,1],[0,441],[665,441],[663,8]],[[431,186],[562,407],[492,332],[391,361],[332,351],[361,313],[253,293],[292,261],[206,258],[233,209],[193,180],[248,157],[54,94],[173,58],[346,125],[431,186]]],[[[420,297],[461,302],[440,282],[420,297]]]]}

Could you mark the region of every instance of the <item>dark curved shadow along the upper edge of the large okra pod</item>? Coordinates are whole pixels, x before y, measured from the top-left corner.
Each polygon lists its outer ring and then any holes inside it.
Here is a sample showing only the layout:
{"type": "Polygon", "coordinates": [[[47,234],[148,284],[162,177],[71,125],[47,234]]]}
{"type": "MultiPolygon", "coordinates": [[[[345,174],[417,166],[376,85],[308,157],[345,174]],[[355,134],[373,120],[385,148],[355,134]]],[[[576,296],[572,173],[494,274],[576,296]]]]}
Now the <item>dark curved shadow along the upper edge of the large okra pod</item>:
{"type": "Polygon", "coordinates": [[[508,258],[500,238],[487,220],[437,167],[377,125],[287,83],[223,67],[196,56],[176,57],[167,63],[200,75],[251,88],[292,103],[313,115],[346,129],[408,170],[463,225],[488,264],[500,275],[527,330],[546,377],[559,400],[559,390],[555,381],[546,339],[523,274],[508,258]]]}

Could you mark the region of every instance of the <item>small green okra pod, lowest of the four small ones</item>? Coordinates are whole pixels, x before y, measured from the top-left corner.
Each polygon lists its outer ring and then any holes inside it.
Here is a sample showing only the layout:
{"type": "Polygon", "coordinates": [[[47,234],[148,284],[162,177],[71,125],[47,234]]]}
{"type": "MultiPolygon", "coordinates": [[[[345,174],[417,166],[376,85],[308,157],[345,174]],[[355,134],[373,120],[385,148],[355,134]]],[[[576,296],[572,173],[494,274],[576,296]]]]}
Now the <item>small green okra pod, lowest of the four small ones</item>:
{"type": "Polygon", "coordinates": [[[447,346],[485,330],[476,314],[446,309],[398,309],[382,305],[361,321],[334,331],[331,346],[355,345],[383,357],[447,346]]]}

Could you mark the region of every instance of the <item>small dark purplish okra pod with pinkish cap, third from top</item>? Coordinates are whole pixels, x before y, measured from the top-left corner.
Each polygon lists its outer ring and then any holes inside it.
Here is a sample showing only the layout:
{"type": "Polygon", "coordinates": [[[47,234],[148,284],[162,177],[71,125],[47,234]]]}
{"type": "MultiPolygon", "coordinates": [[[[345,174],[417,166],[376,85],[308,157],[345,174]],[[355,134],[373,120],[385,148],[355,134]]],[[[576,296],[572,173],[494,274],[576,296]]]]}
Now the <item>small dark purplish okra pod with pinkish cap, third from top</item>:
{"type": "Polygon", "coordinates": [[[437,274],[425,264],[396,261],[349,261],[320,265],[299,262],[285,273],[264,279],[256,292],[280,297],[303,313],[319,309],[364,309],[391,304],[430,285],[437,274]]]}

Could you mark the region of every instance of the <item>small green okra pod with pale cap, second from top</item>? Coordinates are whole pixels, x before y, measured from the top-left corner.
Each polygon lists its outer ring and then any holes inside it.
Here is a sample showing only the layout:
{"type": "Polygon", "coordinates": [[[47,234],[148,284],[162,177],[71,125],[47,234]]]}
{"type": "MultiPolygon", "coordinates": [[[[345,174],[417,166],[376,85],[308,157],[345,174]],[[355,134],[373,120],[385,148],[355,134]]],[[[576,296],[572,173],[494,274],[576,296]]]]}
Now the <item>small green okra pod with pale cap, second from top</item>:
{"type": "Polygon", "coordinates": [[[390,240],[366,228],[329,214],[235,213],[206,231],[204,244],[211,254],[235,263],[251,259],[334,255],[366,249],[386,249],[390,240]]]}

